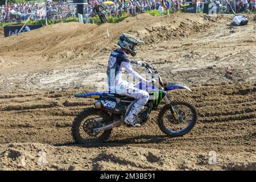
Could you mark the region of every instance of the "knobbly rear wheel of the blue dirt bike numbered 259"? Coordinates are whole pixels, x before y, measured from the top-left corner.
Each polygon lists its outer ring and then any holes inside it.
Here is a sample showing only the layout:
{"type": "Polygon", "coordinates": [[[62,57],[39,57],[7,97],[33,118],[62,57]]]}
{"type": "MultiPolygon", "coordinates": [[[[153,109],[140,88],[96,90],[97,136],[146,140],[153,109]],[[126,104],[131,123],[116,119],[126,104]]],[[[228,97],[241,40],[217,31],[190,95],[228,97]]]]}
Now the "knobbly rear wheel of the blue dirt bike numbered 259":
{"type": "Polygon", "coordinates": [[[110,115],[94,107],[86,108],[74,119],[72,123],[72,137],[76,143],[100,143],[108,140],[112,129],[94,133],[94,127],[100,127],[102,123],[112,121],[110,115]]]}

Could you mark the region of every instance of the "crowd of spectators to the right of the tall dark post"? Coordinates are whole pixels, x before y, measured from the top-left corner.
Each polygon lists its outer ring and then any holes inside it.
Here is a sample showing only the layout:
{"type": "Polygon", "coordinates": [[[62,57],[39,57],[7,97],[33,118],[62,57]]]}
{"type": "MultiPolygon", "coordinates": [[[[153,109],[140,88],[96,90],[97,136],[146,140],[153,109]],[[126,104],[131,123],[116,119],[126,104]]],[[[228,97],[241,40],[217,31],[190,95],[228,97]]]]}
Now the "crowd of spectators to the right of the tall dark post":
{"type": "MultiPolygon", "coordinates": [[[[230,0],[230,5],[234,9],[234,1],[230,0]]],[[[89,3],[85,6],[86,13],[93,15],[93,5],[95,1],[89,3]]],[[[102,3],[102,0],[97,1],[102,3]]],[[[184,5],[197,3],[197,10],[203,11],[203,3],[215,3],[218,12],[221,9],[222,12],[231,12],[232,10],[227,6],[224,0],[114,0],[114,5],[105,5],[105,9],[108,11],[108,15],[122,15],[123,13],[127,14],[136,14],[142,11],[151,11],[159,10],[159,7],[163,9],[169,9],[172,11],[181,10],[184,5]]],[[[236,10],[237,12],[242,11],[255,11],[256,9],[256,0],[236,0],[236,10]]]]}

